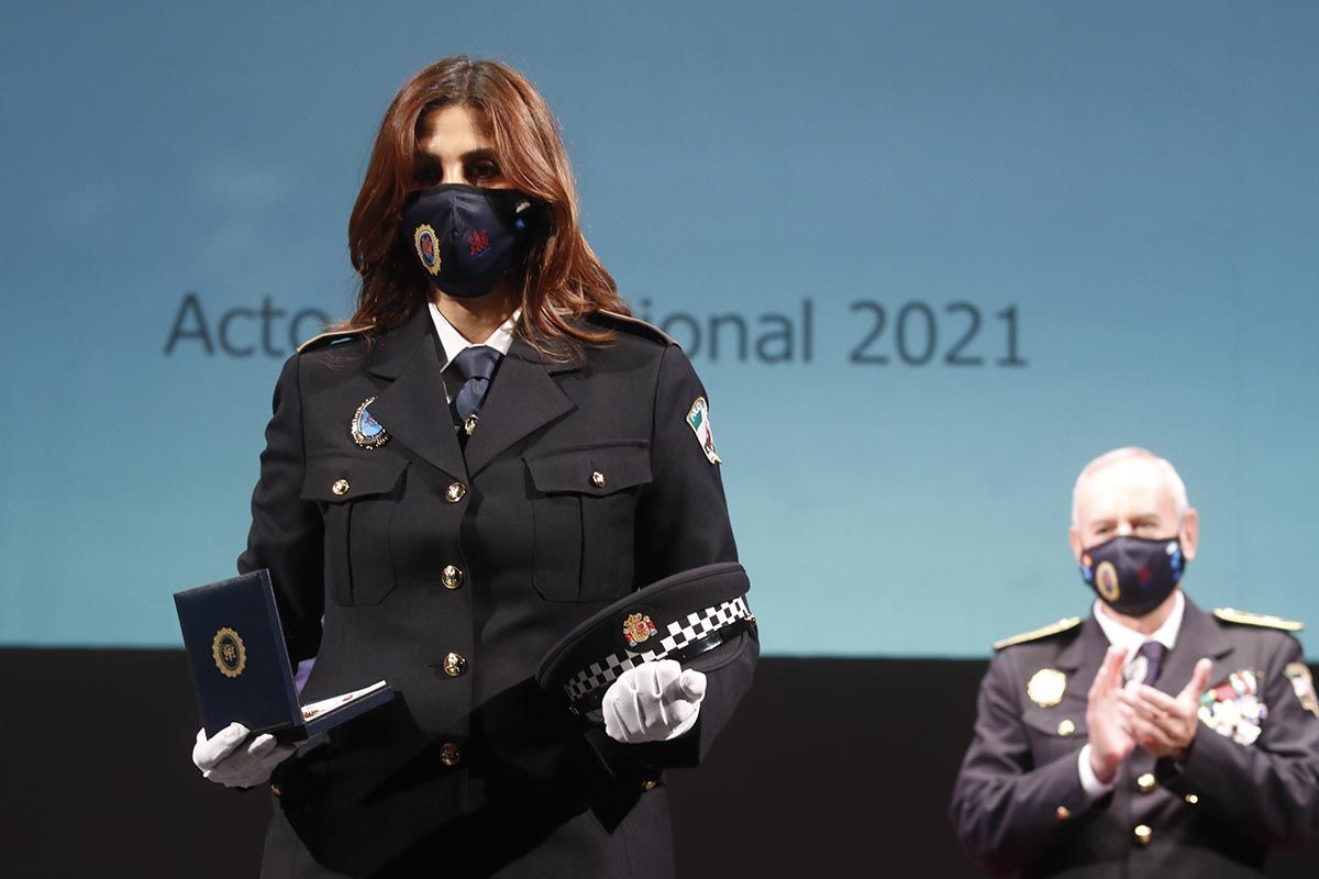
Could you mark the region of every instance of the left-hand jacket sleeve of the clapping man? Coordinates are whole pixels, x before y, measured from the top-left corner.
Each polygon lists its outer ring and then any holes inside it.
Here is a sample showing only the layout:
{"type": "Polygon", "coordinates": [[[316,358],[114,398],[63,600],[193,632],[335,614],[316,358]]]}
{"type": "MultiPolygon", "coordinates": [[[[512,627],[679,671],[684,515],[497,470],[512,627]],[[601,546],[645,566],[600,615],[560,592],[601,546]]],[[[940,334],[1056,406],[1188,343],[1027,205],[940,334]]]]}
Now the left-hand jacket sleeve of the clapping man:
{"type": "Polygon", "coordinates": [[[1020,683],[998,654],[980,684],[975,737],[952,791],[950,817],[967,854],[983,868],[1022,868],[1058,833],[1091,808],[1078,750],[1034,766],[1021,720],[1020,683]],[[1059,808],[1066,812],[1059,812],[1059,808]]]}

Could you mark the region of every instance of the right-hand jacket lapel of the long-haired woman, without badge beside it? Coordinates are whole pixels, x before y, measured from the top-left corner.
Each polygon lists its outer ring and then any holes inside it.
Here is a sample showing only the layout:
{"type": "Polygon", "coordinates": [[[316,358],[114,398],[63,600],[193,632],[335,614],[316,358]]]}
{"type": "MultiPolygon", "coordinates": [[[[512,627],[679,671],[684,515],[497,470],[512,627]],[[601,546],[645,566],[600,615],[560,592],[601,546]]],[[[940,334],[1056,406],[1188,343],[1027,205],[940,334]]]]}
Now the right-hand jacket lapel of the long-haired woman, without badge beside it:
{"type": "Polygon", "coordinates": [[[513,443],[576,409],[551,376],[575,369],[579,366],[546,362],[536,348],[514,336],[467,440],[468,473],[476,476],[513,443]]]}

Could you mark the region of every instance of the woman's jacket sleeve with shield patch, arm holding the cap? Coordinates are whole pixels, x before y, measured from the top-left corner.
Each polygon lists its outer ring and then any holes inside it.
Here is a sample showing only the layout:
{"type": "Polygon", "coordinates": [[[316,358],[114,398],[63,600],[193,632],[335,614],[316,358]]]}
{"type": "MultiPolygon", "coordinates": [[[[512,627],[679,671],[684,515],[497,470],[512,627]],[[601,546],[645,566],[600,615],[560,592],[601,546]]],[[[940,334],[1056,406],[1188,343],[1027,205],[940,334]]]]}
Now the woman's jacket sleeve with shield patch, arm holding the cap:
{"type": "MultiPolygon", "coordinates": [[[[699,565],[736,561],[728,505],[714,464],[687,424],[692,403],[704,397],[696,372],[682,349],[669,345],[662,356],[650,438],[652,481],[638,499],[636,517],[636,585],[699,565]]],[[[712,423],[718,410],[711,406],[712,423]]],[[[749,596],[754,608],[754,592],[749,596]]],[[[707,669],[706,698],[696,725],[671,742],[621,745],[603,729],[588,734],[596,752],[615,775],[653,775],[656,770],[696,766],[710,750],[743,695],[751,688],[758,640],[741,634],[728,650],[728,662],[707,669]]]]}

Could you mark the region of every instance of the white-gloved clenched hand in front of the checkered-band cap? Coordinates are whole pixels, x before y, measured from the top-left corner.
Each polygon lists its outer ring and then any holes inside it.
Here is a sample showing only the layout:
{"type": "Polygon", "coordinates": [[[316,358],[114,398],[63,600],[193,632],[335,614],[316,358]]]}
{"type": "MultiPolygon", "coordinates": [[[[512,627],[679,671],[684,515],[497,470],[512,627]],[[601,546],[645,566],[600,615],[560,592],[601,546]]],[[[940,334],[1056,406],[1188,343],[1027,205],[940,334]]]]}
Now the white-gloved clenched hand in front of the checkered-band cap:
{"type": "Polygon", "coordinates": [[[642,663],[619,675],[604,693],[604,731],[615,742],[638,745],[678,738],[696,723],[706,676],[671,659],[642,663]]]}

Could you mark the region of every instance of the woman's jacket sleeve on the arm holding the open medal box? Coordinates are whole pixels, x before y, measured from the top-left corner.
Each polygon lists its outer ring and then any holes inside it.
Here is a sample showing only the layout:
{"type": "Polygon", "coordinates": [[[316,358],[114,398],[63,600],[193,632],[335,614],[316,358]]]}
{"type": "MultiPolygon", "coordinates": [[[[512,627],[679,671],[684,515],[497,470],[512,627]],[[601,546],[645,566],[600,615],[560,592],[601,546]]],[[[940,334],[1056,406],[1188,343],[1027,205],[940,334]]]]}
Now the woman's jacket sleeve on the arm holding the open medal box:
{"type": "Polygon", "coordinates": [[[289,660],[297,664],[317,655],[324,601],[322,517],[315,503],[299,497],[306,463],[298,354],[280,373],[273,412],[265,428],[261,476],[252,492],[252,528],[247,550],[239,556],[239,573],[270,569],[289,660]]]}

